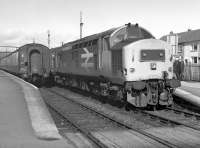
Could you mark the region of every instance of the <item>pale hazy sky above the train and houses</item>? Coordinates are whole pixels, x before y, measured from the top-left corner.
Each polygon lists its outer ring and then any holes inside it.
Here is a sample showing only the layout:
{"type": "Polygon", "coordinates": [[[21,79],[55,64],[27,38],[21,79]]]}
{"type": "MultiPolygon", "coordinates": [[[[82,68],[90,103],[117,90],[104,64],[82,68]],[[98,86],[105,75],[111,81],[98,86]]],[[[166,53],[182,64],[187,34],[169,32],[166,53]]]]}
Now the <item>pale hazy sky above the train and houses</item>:
{"type": "Polygon", "coordinates": [[[156,38],[200,29],[200,0],[0,0],[0,46],[41,43],[50,47],[138,23],[156,38]]]}

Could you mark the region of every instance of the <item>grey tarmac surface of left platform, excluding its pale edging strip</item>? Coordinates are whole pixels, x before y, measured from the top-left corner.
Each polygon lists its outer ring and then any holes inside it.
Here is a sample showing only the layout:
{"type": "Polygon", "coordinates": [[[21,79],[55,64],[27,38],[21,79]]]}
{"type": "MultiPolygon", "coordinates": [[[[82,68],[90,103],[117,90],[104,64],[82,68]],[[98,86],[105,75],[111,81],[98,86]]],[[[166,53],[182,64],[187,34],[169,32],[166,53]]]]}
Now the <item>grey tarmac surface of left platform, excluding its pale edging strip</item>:
{"type": "Polygon", "coordinates": [[[44,140],[34,134],[22,87],[2,71],[0,71],[0,147],[72,147],[63,138],[44,140]]]}

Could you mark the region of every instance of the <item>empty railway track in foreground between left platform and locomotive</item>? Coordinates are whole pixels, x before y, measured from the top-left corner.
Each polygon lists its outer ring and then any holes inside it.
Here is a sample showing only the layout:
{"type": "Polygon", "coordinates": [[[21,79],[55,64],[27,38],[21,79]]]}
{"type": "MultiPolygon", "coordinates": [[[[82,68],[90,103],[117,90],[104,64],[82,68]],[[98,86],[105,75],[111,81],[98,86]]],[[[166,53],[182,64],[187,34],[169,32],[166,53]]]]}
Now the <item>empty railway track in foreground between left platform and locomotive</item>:
{"type": "Polygon", "coordinates": [[[101,131],[101,130],[133,130],[145,137],[148,137],[157,143],[162,144],[165,147],[173,147],[177,148],[177,145],[170,143],[169,141],[163,140],[159,137],[151,135],[143,130],[135,129],[121,121],[117,121],[116,119],[107,116],[102,112],[98,112],[91,107],[85,106],[80,102],[76,102],[66,96],[55,92],[50,89],[45,89],[51,95],[54,95],[56,98],[54,101],[46,103],[51,106],[56,112],[61,114],[66,118],[68,122],[70,122],[75,128],[78,129],[81,133],[83,133],[86,137],[88,137],[91,141],[93,141],[97,147],[108,147],[104,143],[102,143],[98,138],[93,136],[93,131],[101,131]]]}

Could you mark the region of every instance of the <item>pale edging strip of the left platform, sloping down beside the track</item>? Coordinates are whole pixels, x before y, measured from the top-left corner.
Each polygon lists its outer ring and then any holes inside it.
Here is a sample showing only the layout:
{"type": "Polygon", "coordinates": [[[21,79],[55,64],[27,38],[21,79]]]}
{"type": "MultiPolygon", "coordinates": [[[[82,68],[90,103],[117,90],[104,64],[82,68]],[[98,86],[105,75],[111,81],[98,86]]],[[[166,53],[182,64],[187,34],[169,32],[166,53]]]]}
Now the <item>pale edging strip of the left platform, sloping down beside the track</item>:
{"type": "Polygon", "coordinates": [[[47,140],[61,139],[38,88],[11,74],[5,73],[5,75],[9,76],[10,79],[18,83],[22,88],[29,111],[31,125],[36,136],[47,140]]]}

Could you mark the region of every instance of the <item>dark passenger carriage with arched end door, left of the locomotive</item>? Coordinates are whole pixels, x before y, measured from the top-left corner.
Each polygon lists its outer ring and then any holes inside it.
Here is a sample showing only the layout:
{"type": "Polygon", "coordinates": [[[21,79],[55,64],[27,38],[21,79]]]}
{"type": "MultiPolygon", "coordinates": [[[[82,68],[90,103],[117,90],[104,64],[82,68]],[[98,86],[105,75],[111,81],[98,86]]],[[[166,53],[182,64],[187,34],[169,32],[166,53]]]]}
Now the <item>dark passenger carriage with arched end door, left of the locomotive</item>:
{"type": "Polygon", "coordinates": [[[49,77],[50,50],[42,44],[26,44],[1,58],[1,68],[40,85],[49,77]]]}

